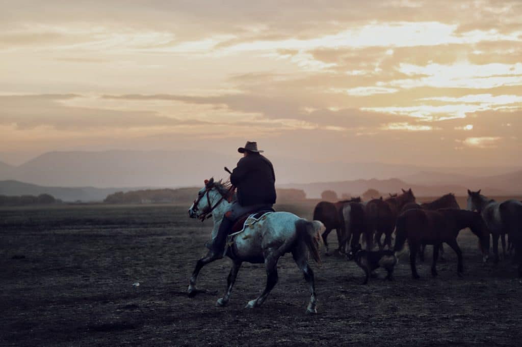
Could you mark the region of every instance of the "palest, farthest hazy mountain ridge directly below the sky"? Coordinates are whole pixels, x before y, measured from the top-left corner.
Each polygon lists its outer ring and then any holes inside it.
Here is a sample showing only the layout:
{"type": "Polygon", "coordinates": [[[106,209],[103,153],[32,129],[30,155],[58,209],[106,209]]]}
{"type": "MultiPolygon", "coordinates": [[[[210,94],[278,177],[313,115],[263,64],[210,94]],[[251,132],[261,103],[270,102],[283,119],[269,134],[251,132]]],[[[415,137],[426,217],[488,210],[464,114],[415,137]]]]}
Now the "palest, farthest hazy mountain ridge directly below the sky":
{"type": "MultiPolygon", "coordinates": [[[[274,164],[277,184],[338,182],[357,179],[400,178],[406,182],[434,185],[423,180],[425,172],[448,178],[441,184],[457,184],[452,176],[486,177],[520,170],[518,167],[423,167],[383,163],[314,163],[267,153],[274,164]],[[414,178],[418,178],[415,180],[414,178]],[[411,178],[411,179],[410,179],[411,178]]],[[[227,178],[224,166],[235,167],[239,153],[210,151],[105,151],[49,152],[19,166],[0,165],[0,180],[17,180],[49,187],[193,187],[211,176],[227,178]]]]}

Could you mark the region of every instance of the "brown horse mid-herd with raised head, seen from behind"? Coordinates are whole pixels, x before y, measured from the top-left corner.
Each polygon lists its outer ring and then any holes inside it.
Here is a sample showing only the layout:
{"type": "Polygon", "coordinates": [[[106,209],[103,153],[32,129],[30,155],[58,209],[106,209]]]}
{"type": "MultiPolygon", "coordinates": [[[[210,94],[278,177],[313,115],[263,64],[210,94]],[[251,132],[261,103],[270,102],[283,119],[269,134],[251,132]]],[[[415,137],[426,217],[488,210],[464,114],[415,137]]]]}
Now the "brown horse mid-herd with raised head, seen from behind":
{"type": "Polygon", "coordinates": [[[367,227],[370,232],[375,233],[375,243],[382,250],[384,246],[392,249],[392,233],[395,229],[395,220],[402,208],[409,203],[415,202],[415,195],[409,190],[402,189],[402,194],[388,197],[386,200],[373,199],[366,204],[365,216],[367,227]],[[385,236],[384,246],[381,243],[382,236],[385,236]]]}

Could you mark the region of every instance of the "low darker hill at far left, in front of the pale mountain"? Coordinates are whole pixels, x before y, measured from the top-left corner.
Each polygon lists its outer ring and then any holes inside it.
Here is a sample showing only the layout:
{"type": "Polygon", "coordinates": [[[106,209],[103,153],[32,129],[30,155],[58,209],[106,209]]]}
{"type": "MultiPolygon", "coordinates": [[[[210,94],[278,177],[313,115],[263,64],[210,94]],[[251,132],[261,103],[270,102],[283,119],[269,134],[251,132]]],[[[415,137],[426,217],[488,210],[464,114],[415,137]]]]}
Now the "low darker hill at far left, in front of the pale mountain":
{"type": "Polygon", "coordinates": [[[23,183],[19,181],[0,181],[0,195],[20,196],[20,195],[40,195],[50,194],[56,199],[65,202],[81,200],[84,202],[102,201],[109,194],[117,191],[128,191],[137,188],[63,188],[63,187],[42,187],[41,185],[23,183]]]}

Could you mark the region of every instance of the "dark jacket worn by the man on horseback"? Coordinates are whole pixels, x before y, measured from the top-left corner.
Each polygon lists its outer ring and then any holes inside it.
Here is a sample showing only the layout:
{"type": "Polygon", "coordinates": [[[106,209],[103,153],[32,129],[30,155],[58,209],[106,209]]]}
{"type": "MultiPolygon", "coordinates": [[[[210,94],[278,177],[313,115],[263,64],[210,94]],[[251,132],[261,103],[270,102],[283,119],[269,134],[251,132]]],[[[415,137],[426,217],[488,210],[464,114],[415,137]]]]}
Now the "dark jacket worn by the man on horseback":
{"type": "Polygon", "coordinates": [[[260,154],[241,158],[230,175],[230,182],[238,188],[241,206],[276,203],[274,167],[260,154]]]}

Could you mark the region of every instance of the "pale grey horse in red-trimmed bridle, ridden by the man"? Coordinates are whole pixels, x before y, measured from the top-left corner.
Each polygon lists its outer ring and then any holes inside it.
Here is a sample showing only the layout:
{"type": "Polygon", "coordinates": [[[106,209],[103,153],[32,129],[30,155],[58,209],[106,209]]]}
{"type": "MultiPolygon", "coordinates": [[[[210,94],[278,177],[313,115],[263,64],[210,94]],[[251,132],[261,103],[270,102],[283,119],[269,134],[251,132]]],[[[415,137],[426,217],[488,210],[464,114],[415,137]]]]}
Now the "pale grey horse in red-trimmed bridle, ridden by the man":
{"type": "MultiPolygon", "coordinates": [[[[188,210],[191,218],[204,220],[210,214],[212,215],[214,222],[212,239],[216,237],[221,220],[232,203],[229,201],[232,200],[229,199],[230,194],[227,185],[215,182],[213,179],[206,180],[205,187],[199,190],[197,199],[188,210]]],[[[310,304],[306,312],[316,313],[314,272],[308,265],[308,253],[310,252],[317,263],[321,262],[318,247],[323,231],[324,226],[320,221],[307,221],[288,212],[270,213],[252,227],[245,228],[235,237],[226,253],[232,259],[232,268],[228,276],[227,291],[216,305],[226,306],[229,303],[232,287],[242,262],[265,263],[267,272],[265,290],[257,299],[248,302],[246,307],[254,308],[262,305],[277,283],[279,258],[286,253],[292,253],[295,263],[303,271],[304,278],[310,286],[310,304]]],[[[196,289],[196,281],[200,269],[217,258],[212,252],[209,252],[199,259],[189,282],[189,296],[199,292],[196,289]]]]}

